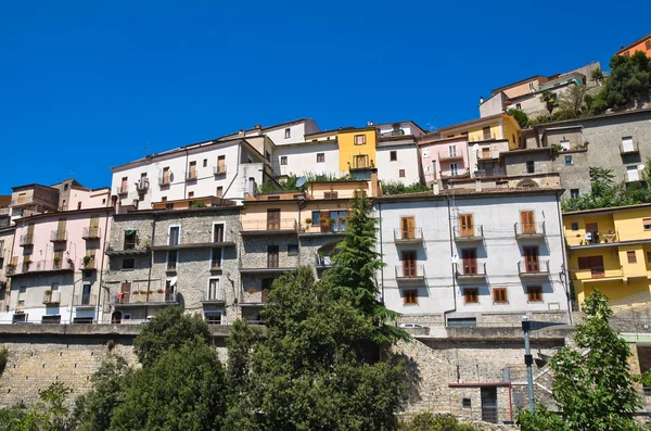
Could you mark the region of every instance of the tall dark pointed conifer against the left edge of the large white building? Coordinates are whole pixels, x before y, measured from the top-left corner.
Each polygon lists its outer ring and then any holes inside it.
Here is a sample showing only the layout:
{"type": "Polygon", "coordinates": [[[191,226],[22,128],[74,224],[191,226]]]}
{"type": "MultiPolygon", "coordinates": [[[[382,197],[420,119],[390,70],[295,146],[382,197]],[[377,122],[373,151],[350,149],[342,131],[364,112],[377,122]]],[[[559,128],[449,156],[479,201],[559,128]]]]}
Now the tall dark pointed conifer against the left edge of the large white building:
{"type": "Polygon", "coordinates": [[[375,343],[407,341],[410,339],[407,332],[394,324],[398,314],[378,300],[380,292],[375,275],[384,263],[375,251],[378,219],[371,216],[371,205],[365,192],[355,194],[349,211],[344,238],[332,257],[334,267],[326,271],[324,279],[335,292],[344,296],[352,294],[355,306],[372,319],[375,343]]]}

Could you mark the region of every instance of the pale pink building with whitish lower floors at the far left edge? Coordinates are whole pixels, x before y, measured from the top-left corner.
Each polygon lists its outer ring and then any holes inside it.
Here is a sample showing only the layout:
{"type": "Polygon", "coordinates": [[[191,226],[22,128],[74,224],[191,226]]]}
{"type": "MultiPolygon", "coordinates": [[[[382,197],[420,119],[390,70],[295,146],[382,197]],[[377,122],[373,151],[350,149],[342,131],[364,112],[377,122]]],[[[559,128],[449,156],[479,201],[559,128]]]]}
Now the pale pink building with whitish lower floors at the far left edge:
{"type": "Polygon", "coordinates": [[[11,258],[4,265],[11,288],[0,321],[101,320],[98,299],[112,215],[112,207],[95,207],[17,219],[11,227],[15,231],[13,243],[5,244],[11,248],[11,258]]]}

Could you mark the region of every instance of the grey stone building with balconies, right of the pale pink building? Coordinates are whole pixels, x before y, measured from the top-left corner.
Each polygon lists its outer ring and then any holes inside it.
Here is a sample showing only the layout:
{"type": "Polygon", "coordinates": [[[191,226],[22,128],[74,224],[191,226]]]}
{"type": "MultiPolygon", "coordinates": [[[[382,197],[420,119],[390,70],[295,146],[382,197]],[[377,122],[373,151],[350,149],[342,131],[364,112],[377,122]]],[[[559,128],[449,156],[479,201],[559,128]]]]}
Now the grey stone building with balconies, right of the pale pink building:
{"type": "Polygon", "coordinates": [[[115,214],[104,322],[142,322],[169,304],[209,324],[235,320],[239,230],[238,206],[218,199],[115,214]]]}

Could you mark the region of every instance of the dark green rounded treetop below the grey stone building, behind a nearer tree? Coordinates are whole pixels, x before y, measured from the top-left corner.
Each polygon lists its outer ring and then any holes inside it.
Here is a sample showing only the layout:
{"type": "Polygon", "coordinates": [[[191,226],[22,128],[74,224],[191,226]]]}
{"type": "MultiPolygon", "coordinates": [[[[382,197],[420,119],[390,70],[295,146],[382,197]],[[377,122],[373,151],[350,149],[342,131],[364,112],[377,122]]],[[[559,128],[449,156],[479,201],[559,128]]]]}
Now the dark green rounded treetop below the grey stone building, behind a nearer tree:
{"type": "Polygon", "coordinates": [[[133,351],[143,367],[153,365],[166,352],[191,341],[212,344],[213,338],[200,315],[184,316],[177,306],[165,307],[133,341],[133,351]]]}

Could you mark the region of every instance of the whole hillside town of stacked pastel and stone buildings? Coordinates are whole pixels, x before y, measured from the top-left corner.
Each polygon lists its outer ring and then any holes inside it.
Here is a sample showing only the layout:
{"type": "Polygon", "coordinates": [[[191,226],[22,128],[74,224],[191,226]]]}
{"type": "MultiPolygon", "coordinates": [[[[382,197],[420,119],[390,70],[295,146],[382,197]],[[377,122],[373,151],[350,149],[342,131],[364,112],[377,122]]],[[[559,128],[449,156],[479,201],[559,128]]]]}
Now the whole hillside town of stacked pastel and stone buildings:
{"type": "MultiPolygon", "coordinates": [[[[651,35],[614,55],[640,50],[651,56],[651,35]]],[[[561,324],[533,341],[549,357],[596,289],[642,375],[651,200],[635,197],[651,181],[651,103],[589,111],[584,100],[599,103],[608,74],[598,62],[571,67],[496,83],[476,118],[433,130],[407,118],[235,126],[126,156],[103,188],[79,178],[15,185],[0,197],[0,332],[27,350],[39,331],[127,337],[170,305],[215,331],[237,320],[264,327],[276,279],[307,266],[319,280],[335,265],[350,202],[363,194],[378,224],[379,301],[418,341],[403,347],[421,366],[414,410],[512,423],[526,404],[523,316],[561,324]],[[596,185],[626,198],[599,201],[596,185]]],[[[34,370],[48,362],[27,350],[0,383],[25,381],[21,372],[50,382],[34,370]]],[[[546,378],[536,375],[537,396],[550,390],[546,378]]],[[[12,389],[0,405],[26,393],[12,389]]]]}

